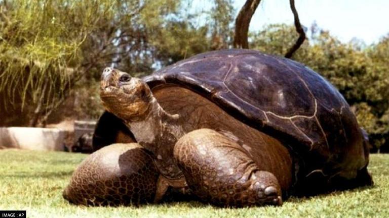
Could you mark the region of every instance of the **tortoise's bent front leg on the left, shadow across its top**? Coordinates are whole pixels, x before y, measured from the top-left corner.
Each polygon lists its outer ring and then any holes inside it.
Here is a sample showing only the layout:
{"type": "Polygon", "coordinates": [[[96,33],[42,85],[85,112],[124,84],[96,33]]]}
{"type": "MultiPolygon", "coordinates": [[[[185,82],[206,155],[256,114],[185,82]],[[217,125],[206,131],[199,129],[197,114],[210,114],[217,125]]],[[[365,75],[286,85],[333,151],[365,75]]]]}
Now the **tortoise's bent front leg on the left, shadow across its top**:
{"type": "Polygon", "coordinates": [[[153,202],[158,177],[152,155],[142,146],[112,144],[81,163],[63,197],[74,204],[93,206],[153,202]]]}

